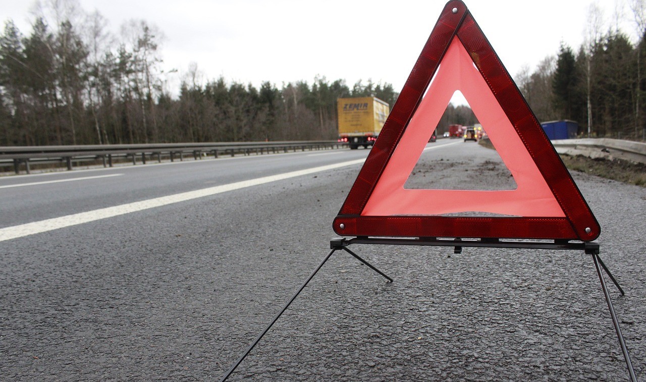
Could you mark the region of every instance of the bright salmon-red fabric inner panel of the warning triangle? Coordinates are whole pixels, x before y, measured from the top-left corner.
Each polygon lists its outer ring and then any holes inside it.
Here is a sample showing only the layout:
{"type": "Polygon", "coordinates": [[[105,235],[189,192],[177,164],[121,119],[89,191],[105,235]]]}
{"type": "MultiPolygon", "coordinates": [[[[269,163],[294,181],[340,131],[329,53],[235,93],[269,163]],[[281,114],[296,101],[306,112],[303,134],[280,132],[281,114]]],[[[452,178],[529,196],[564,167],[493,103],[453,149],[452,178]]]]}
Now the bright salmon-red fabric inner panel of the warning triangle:
{"type": "Polygon", "coordinates": [[[466,211],[523,217],[565,217],[494,94],[474,67],[462,43],[454,37],[361,215],[442,215],[466,211]],[[491,142],[499,147],[498,154],[514,176],[516,189],[404,189],[428,142],[431,133],[428,127],[437,125],[455,90],[461,90],[475,116],[485,126],[491,142]],[[428,200],[433,200],[433,203],[428,203],[428,200]],[[461,202],[456,204],[453,200],[461,202]]]}

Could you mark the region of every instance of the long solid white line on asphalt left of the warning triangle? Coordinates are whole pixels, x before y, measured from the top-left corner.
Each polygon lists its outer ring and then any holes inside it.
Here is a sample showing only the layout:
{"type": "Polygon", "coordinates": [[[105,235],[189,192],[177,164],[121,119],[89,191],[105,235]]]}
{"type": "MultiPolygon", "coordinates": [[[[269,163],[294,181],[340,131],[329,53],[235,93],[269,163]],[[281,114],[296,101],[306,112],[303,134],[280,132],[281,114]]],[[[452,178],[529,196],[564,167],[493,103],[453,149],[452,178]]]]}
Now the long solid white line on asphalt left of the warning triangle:
{"type": "Polygon", "coordinates": [[[140,202],[121,204],[121,206],[101,208],[101,209],[96,209],[94,211],[75,213],[73,215],[67,215],[64,217],[51,218],[47,220],[41,220],[39,222],[32,222],[27,224],[20,224],[19,226],[6,227],[6,228],[0,229],[0,242],[5,240],[17,239],[19,237],[25,237],[28,235],[34,235],[36,233],[52,231],[54,229],[76,226],[78,224],[83,224],[88,222],[94,222],[95,220],[116,217],[119,215],[125,215],[127,213],[143,211],[144,209],[150,209],[154,207],[166,206],[168,204],[185,202],[187,200],[202,198],[203,196],[216,195],[220,193],[225,193],[227,191],[234,191],[236,189],[258,186],[260,184],[266,184],[270,182],[276,182],[278,180],[285,180],[289,178],[295,178],[297,176],[320,173],[321,171],[338,169],[340,167],[346,167],[349,165],[361,164],[363,162],[365,162],[365,159],[349,160],[347,162],[340,162],[337,164],[312,167],[311,169],[291,171],[289,173],[278,174],[278,175],[263,176],[262,178],[243,180],[242,182],[224,184],[222,186],[198,189],[196,191],[188,191],[185,193],[179,193],[179,194],[169,195],[169,196],[161,196],[160,198],[153,198],[149,200],[141,200],[140,202]]]}

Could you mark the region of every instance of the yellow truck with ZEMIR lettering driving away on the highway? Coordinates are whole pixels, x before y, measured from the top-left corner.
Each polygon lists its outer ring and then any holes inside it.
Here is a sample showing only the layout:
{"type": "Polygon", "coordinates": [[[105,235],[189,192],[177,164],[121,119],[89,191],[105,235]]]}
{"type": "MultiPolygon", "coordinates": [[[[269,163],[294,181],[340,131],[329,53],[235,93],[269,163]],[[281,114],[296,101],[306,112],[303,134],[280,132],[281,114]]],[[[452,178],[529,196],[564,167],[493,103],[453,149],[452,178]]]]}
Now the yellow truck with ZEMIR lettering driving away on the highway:
{"type": "Polygon", "coordinates": [[[375,144],[388,113],[390,106],[379,98],[339,98],[339,142],[348,142],[350,149],[367,149],[375,144]]]}

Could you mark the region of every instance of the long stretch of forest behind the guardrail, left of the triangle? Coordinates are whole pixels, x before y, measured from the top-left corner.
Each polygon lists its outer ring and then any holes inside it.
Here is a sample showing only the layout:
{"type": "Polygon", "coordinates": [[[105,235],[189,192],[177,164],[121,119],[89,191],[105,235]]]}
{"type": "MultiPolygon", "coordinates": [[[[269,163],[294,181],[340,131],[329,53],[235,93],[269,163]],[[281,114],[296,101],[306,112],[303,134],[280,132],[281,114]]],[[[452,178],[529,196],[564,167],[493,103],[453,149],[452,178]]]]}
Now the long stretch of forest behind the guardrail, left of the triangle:
{"type": "Polygon", "coordinates": [[[0,34],[0,146],[337,138],[337,98],[376,96],[389,83],[317,77],[311,83],[200,81],[196,64],[177,96],[160,69],[163,34],[129,21],[120,36],[74,0],[41,5],[32,30],[0,34]]]}

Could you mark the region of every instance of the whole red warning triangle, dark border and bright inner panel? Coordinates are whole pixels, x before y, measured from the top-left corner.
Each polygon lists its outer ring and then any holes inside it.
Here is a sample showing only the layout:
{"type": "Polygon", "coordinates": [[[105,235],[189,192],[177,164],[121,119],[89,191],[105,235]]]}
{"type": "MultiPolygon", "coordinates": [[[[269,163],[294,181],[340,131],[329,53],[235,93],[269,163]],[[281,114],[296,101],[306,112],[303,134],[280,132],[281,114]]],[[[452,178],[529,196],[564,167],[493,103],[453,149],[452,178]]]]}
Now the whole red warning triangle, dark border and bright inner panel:
{"type": "Polygon", "coordinates": [[[601,228],[516,84],[462,1],[446,3],[333,223],[340,235],[589,241],[601,228]],[[428,91],[427,91],[428,90],[428,91]],[[455,90],[517,188],[405,189],[455,90]],[[461,211],[437,200],[464,200],[461,211]],[[505,217],[455,217],[482,211],[505,217]]]}

